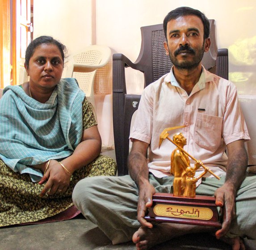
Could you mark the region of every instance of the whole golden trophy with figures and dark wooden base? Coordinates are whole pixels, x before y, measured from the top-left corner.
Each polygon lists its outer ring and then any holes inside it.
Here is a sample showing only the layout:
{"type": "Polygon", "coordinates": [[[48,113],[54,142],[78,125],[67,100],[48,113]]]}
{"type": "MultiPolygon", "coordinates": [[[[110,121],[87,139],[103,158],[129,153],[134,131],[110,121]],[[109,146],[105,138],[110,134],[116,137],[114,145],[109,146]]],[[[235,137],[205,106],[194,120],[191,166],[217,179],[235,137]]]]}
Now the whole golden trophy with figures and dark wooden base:
{"type": "Polygon", "coordinates": [[[176,146],[171,154],[170,172],[174,176],[173,190],[172,194],[155,193],[153,195],[153,205],[145,219],[151,222],[221,227],[222,210],[220,208],[218,211],[215,197],[196,195],[196,183],[208,171],[217,179],[220,178],[183,149],[187,141],[182,133],[176,133],[172,139],[169,138],[168,131],[184,127],[167,128],[160,134],[159,147],[164,139],[168,139],[176,146]],[[190,166],[189,157],[196,162],[194,167],[190,166]],[[205,171],[195,177],[199,167],[203,167],[205,171]]]}

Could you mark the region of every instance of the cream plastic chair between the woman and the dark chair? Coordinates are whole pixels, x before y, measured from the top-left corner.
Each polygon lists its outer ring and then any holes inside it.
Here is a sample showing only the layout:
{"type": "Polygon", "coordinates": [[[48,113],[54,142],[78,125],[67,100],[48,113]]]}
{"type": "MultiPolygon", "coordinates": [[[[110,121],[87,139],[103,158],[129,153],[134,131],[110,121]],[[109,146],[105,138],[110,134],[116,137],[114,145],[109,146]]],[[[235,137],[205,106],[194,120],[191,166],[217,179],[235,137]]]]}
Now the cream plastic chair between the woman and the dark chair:
{"type": "Polygon", "coordinates": [[[111,50],[109,47],[91,45],[73,58],[72,77],[77,79],[80,89],[84,91],[86,98],[92,104],[95,117],[93,82],[97,69],[104,67],[109,62],[110,57],[111,50]]]}

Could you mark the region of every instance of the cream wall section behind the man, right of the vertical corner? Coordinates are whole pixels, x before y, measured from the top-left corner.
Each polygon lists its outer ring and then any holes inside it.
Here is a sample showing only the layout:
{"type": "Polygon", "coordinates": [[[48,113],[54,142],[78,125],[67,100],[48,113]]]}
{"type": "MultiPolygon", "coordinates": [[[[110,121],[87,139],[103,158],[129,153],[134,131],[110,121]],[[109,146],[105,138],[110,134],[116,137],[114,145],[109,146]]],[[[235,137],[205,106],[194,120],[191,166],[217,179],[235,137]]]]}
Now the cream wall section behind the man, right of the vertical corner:
{"type": "MultiPolygon", "coordinates": [[[[97,0],[97,42],[134,62],[140,49],[139,28],[162,23],[169,11],[180,6],[197,8],[216,20],[218,48],[229,49],[230,79],[239,93],[256,94],[255,0],[97,0]]],[[[140,73],[136,74],[129,72],[130,92],[141,91],[140,73]]]]}

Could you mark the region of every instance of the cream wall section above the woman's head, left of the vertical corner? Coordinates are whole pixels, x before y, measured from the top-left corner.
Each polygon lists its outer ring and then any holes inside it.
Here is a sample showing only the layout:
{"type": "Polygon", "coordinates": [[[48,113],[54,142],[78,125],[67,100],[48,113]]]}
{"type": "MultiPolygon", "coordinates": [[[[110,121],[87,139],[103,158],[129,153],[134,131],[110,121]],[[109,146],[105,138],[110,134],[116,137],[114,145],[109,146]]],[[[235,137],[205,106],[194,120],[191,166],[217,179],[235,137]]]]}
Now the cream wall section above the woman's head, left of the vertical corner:
{"type": "Polygon", "coordinates": [[[76,55],[92,42],[91,10],[91,0],[34,0],[34,38],[52,36],[76,55]]]}

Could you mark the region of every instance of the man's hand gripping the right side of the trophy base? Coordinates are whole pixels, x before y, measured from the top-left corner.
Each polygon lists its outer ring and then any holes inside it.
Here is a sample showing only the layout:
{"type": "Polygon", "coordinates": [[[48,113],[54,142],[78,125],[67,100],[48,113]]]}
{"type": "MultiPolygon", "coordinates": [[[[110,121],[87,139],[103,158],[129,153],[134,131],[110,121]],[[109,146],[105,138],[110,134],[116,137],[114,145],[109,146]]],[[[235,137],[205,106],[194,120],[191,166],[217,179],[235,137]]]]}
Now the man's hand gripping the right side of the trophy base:
{"type": "Polygon", "coordinates": [[[224,183],[215,191],[216,205],[223,208],[222,228],[215,235],[217,239],[223,237],[229,230],[231,221],[235,216],[235,189],[231,183],[224,183]]]}

